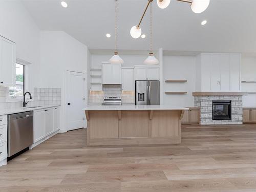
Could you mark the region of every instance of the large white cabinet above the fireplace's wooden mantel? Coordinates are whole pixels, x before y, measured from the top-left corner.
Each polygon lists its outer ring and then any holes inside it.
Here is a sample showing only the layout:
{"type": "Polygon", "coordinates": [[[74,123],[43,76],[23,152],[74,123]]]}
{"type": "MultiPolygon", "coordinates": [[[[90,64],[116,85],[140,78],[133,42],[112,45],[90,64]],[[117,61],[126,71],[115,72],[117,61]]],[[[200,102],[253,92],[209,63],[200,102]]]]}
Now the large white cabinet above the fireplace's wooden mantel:
{"type": "Polygon", "coordinates": [[[196,91],[241,91],[241,54],[202,53],[196,65],[196,91]]]}

